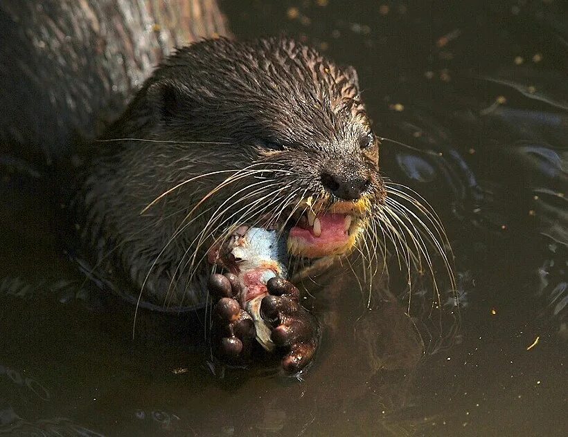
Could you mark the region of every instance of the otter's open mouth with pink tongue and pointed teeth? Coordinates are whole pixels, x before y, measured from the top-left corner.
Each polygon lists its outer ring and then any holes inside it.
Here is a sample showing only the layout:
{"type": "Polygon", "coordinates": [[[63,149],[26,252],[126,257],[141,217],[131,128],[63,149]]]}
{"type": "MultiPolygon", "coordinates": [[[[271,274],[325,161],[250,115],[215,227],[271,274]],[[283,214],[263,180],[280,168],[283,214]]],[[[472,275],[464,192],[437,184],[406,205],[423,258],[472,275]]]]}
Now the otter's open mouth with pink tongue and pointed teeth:
{"type": "Polygon", "coordinates": [[[323,208],[305,202],[304,211],[292,216],[287,238],[291,255],[321,258],[350,252],[362,231],[367,201],[338,202],[323,208]]]}

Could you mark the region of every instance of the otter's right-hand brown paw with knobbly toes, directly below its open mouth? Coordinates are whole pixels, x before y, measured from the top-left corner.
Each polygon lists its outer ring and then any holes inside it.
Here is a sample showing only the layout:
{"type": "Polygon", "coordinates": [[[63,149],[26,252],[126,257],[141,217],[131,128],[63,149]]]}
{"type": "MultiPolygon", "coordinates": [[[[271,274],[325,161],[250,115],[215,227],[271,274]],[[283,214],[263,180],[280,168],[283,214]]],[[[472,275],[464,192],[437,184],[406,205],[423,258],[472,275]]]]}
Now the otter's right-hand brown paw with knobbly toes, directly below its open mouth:
{"type": "Polygon", "coordinates": [[[272,329],[272,342],[285,348],[283,370],[297,373],[311,362],[316,351],[317,320],[301,306],[300,292],[290,281],[272,278],[266,285],[270,294],[260,304],[260,315],[272,329]]]}

